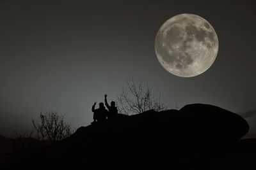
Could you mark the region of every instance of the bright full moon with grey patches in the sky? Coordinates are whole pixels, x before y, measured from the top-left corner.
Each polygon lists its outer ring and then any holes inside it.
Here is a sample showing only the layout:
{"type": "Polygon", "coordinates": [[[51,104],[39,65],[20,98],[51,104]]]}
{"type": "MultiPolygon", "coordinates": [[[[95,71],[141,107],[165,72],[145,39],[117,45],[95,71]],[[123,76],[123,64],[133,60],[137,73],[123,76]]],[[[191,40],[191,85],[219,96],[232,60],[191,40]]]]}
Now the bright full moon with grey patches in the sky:
{"type": "Polygon", "coordinates": [[[212,25],[194,14],[168,19],[156,35],[155,51],[161,66],[182,77],[204,73],[216,59],[218,37],[212,25]]]}

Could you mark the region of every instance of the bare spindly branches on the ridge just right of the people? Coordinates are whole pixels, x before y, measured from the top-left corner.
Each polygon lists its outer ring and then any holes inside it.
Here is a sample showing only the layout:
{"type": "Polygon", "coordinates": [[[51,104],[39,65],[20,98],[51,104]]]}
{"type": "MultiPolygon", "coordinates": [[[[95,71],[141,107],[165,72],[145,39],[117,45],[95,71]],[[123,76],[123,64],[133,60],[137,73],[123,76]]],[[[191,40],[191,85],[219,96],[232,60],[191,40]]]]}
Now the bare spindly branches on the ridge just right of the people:
{"type": "Polygon", "coordinates": [[[168,106],[161,103],[159,94],[158,99],[152,94],[152,89],[148,87],[148,83],[143,85],[136,84],[132,80],[131,83],[127,81],[128,89],[122,88],[122,93],[118,94],[117,108],[122,114],[129,115],[129,113],[143,113],[147,110],[162,111],[167,110],[168,106]]]}

